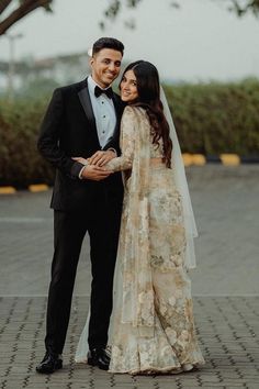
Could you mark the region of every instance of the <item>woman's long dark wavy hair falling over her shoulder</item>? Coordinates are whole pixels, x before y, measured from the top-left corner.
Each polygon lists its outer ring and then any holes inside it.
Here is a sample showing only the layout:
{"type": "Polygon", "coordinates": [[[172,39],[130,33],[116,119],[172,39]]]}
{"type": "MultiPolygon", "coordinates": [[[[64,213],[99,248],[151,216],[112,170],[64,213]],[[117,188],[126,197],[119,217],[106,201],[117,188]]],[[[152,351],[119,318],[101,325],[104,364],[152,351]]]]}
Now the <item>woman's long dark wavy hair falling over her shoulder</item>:
{"type": "Polygon", "coordinates": [[[132,105],[143,107],[146,110],[153,129],[153,144],[159,146],[159,140],[162,138],[164,162],[167,167],[171,167],[172,141],[169,136],[169,124],[160,101],[160,82],[157,68],[147,60],[136,60],[125,68],[122,79],[127,70],[133,70],[137,80],[138,98],[132,102],[132,105]]]}

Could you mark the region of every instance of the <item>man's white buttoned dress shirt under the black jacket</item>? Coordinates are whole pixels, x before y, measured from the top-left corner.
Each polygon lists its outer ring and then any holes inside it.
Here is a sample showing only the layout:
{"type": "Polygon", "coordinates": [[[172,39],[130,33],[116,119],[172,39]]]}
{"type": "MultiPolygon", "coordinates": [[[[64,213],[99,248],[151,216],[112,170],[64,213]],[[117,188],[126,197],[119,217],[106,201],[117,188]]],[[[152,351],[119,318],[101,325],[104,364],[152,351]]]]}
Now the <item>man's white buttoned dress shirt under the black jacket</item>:
{"type": "Polygon", "coordinates": [[[100,86],[92,79],[92,77],[89,76],[88,89],[92,103],[92,110],[95,116],[99,143],[103,148],[113,136],[116,125],[116,114],[112,99],[109,99],[109,97],[104,93],[95,97],[95,86],[100,88],[100,86]]]}

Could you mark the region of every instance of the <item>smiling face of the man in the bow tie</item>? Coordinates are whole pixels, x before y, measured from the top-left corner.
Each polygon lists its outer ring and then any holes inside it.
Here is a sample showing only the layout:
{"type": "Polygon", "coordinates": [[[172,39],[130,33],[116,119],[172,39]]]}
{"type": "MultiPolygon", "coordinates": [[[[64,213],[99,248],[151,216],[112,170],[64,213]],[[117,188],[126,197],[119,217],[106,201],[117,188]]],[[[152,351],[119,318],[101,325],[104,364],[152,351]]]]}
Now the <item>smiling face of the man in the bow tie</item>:
{"type": "Polygon", "coordinates": [[[101,87],[108,88],[117,78],[122,54],[112,48],[102,48],[91,58],[92,78],[101,87]]]}

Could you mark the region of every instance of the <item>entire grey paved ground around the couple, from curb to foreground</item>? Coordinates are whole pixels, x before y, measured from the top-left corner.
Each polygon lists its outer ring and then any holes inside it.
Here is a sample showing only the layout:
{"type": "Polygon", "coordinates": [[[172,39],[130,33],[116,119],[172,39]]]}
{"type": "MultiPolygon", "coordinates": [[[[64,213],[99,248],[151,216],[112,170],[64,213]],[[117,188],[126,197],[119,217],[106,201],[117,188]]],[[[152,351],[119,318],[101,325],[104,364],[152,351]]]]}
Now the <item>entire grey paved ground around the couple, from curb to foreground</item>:
{"type": "Polygon", "coordinates": [[[88,240],[82,247],[65,368],[38,376],[53,246],[50,192],[0,197],[0,389],[259,388],[259,166],[188,169],[200,230],[192,284],[206,365],[178,376],[110,375],[75,365],[89,303],[88,240]]]}

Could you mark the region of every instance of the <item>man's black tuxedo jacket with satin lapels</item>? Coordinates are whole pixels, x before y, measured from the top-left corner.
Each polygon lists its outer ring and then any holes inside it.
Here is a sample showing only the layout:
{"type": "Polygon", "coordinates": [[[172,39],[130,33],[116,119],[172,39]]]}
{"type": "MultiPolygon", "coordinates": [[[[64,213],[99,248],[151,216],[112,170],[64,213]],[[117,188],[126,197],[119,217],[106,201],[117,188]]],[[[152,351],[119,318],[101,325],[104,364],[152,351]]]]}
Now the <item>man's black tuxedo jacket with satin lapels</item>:
{"type": "MultiPolygon", "coordinates": [[[[116,127],[103,149],[113,147],[120,155],[120,122],[124,105],[115,93],[113,103],[117,116],[116,127]]],[[[103,192],[103,198],[122,194],[120,173],[101,181],[81,180],[78,176],[83,165],[71,159],[88,158],[101,149],[87,80],[54,91],[37,146],[40,153],[57,168],[50,203],[53,209],[65,211],[89,207],[97,193],[100,198],[100,192],[103,192]]]]}

